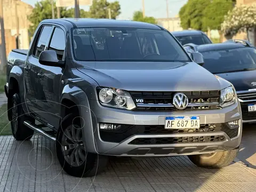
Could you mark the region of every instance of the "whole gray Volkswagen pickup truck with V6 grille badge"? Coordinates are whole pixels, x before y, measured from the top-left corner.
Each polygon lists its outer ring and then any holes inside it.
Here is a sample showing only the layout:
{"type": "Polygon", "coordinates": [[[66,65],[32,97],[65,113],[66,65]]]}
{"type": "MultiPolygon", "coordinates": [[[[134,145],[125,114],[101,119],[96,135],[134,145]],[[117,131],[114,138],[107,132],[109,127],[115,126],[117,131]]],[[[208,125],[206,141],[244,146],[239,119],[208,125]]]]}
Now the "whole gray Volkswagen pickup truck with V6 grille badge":
{"type": "Polygon", "coordinates": [[[242,135],[234,86],[201,67],[157,25],[107,19],[42,21],[30,49],[8,58],[13,137],[55,141],[63,170],[100,173],[108,156],[188,155],[220,168],[242,135]]]}

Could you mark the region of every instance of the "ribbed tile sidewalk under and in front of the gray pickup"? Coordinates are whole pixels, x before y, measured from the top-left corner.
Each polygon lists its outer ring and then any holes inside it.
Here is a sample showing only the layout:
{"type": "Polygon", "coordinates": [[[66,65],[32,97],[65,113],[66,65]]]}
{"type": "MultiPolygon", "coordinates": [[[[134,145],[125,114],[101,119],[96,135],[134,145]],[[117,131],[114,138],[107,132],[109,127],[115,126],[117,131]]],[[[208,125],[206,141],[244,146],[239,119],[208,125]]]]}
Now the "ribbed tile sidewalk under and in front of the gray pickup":
{"type": "MultiPolygon", "coordinates": [[[[255,138],[255,137],[254,137],[255,138]]],[[[254,142],[256,142],[254,140],[254,142]]],[[[249,144],[250,145],[250,144],[249,144]]],[[[251,143],[252,145],[252,143],[251,143]]],[[[54,143],[0,137],[0,191],[255,191],[256,172],[242,162],[221,170],[201,169],[187,157],[113,158],[94,178],[61,170],[54,143]]]]}

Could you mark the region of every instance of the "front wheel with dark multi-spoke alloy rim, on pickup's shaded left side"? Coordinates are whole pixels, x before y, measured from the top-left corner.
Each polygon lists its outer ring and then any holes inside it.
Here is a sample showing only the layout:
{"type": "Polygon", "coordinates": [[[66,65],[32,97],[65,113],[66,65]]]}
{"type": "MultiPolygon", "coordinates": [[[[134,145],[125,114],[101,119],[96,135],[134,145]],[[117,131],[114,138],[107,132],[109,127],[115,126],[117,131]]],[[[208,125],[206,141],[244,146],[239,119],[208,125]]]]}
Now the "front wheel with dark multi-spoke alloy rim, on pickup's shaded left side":
{"type": "Polygon", "coordinates": [[[76,117],[79,115],[72,113],[61,121],[56,140],[57,157],[63,170],[69,175],[79,178],[93,177],[107,166],[108,156],[86,152],[82,136],[83,128],[81,128],[80,119],[76,117]],[[73,161],[73,157],[79,162],[73,161]]]}

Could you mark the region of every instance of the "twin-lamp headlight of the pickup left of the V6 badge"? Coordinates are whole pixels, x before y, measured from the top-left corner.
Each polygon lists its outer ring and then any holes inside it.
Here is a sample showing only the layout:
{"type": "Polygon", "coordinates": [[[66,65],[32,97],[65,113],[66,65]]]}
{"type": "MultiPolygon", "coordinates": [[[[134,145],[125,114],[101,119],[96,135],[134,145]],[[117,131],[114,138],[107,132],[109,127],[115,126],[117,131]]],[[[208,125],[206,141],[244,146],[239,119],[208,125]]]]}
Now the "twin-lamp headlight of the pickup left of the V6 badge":
{"type": "Polygon", "coordinates": [[[128,110],[132,110],[136,107],[130,93],[121,89],[98,89],[98,95],[100,103],[103,106],[116,107],[128,110]]]}

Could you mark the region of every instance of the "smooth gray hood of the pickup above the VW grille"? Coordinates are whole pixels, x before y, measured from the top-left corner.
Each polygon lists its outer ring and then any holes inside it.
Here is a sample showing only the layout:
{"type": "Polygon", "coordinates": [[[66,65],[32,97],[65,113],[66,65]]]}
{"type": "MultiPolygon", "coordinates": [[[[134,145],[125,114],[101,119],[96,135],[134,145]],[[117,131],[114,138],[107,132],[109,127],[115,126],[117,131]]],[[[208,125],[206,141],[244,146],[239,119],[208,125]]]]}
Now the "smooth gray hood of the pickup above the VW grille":
{"type": "MultiPolygon", "coordinates": [[[[99,86],[127,91],[210,91],[229,83],[194,62],[80,62],[99,86]],[[86,65],[86,66],[85,66],[86,65]]],[[[83,66],[83,67],[82,67],[83,66]]]]}

